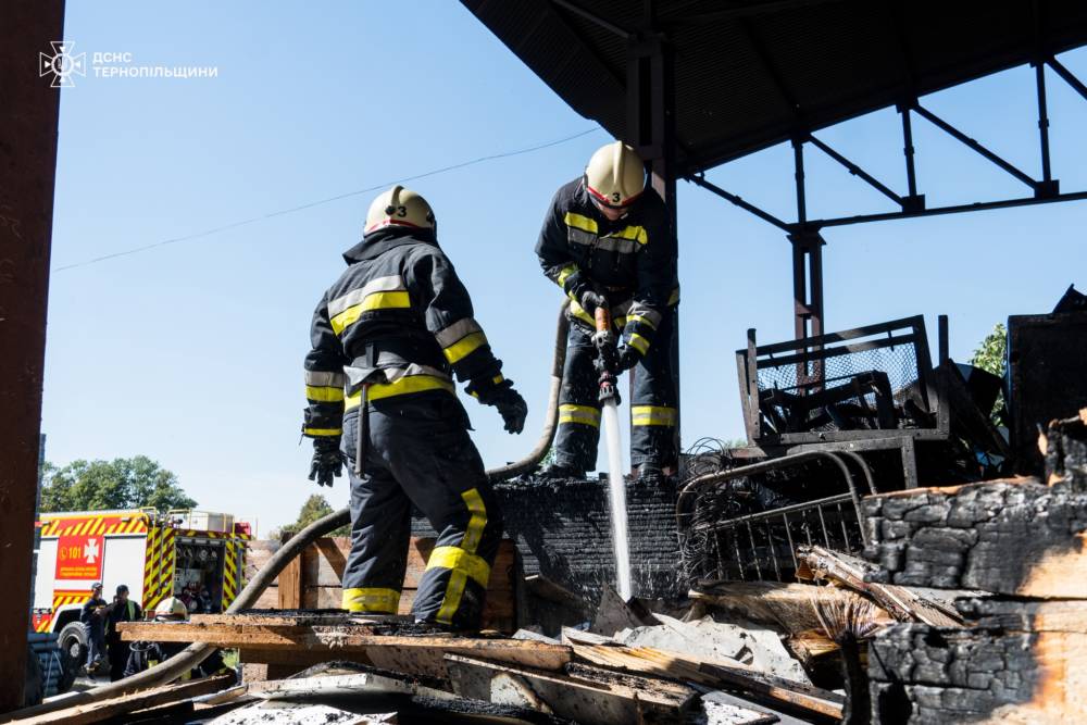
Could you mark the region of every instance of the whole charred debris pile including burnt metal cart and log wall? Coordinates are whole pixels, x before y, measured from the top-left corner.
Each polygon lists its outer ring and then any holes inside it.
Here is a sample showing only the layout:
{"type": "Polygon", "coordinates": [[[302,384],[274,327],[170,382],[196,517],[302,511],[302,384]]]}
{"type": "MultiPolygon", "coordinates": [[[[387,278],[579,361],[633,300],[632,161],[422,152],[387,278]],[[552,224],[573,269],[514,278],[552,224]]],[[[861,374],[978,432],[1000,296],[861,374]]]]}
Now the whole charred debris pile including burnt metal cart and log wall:
{"type": "MultiPolygon", "coordinates": [[[[1087,312],[1013,316],[1007,374],[921,317],[737,352],[748,445],[632,483],[636,593],[600,482],[497,487],[483,633],[337,611],[322,539],[259,607],[122,625],[237,649],[238,677],[29,722],[1078,722],[1087,712],[1087,312]],[[933,359],[935,358],[935,363],[933,359]]],[[[405,614],[433,549],[416,522],[405,614]]],[[[259,567],[276,542],[254,542],[259,567]]]]}

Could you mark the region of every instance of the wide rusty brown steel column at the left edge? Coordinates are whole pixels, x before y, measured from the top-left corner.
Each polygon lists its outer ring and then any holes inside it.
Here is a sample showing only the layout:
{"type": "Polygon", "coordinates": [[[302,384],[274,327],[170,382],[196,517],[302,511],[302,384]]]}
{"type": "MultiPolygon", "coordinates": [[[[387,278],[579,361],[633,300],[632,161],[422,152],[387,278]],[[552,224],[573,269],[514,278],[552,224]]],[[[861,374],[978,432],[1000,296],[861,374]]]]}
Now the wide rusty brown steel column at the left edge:
{"type": "Polygon", "coordinates": [[[60,90],[38,53],[63,0],[0,4],[0,712],[23,703],[60,90]]]}

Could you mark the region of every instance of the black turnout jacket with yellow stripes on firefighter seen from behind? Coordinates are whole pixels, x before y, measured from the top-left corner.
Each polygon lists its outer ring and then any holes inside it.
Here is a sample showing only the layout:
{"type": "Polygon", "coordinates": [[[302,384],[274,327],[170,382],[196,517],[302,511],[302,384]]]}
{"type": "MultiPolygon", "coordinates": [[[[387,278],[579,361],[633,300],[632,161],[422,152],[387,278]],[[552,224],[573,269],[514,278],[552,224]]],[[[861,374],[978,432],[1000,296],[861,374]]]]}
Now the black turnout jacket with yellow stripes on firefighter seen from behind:
{"type": "MultiPolygon", "coordinates": [[[[385,228],[343,253],[348,268],[313,313],[302,433],[342,433],[362,396],[448,395],[452,378],[482,402],[510,387],[473,318],[472,300],[429,230],[385,228]]],[[[395,402],[392,403],[395,404],[395,402]]]]}

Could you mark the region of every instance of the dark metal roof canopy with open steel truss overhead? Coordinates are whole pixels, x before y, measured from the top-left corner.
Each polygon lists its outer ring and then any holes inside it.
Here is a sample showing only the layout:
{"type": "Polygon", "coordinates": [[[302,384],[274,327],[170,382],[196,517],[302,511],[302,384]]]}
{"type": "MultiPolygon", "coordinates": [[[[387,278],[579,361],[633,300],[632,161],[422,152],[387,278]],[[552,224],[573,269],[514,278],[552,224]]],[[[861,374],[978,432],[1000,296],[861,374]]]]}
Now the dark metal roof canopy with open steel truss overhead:
{"type": "Polygon", "coordinates": [[[861,222],[1087,198],[1061,193],[1049,163],[1046,73],[1087,99],[1057,53],[1087,43],[1082,0],[462,0],[563,100],[641,152],[675,214],[686,178],[782,228],[794,247],[798,338],[822,333],[820,230],[861,222]],[[919,103],[925,93],[1030,63],[1042,177],[1036,179],[919,103]],[[897,193],[813,136],[895,105],[908,189],[897,193]],[[1021,199],[926,208],[913,167],[912,117],[936,125],[1030,189],[1021,199]],[[702,172],[794,146],[797,218],[779,220],[702,172]],[[803,152],[812,146],[898,205],[809,220],[803,152]]]}

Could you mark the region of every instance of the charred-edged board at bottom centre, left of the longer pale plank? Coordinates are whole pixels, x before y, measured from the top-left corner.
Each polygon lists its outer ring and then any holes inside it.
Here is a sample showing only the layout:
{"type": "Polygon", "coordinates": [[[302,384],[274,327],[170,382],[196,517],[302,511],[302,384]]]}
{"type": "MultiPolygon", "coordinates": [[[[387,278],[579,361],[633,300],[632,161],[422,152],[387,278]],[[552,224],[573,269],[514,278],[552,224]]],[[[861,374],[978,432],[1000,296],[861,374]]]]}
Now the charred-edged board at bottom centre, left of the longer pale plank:
{"type": "Polygon", "coordinates": [[[634,689],[619,683],[588,682],[455,654],[446,657],[446,666],[453,691],[461,697],[490,702],[496,695],[496,679],[515,679],[559,717],[585,725],[679,722],[694,699],[689,690],[648,685],[634,689]]]}

